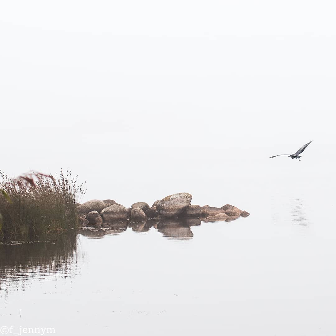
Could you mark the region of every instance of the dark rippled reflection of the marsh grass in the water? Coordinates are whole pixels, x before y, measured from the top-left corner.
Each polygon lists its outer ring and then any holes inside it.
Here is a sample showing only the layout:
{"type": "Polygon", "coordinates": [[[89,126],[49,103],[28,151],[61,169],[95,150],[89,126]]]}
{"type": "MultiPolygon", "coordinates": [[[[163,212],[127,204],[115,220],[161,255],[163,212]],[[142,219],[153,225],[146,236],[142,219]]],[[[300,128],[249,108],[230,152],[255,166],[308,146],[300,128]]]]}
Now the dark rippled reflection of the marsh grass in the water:
{"type": "Polygon", "coordinates": [[[75,234],[59,235],[49,242],[21,242],[0,244],[0,292],[7,292],[14,282],[25,285],[31,277],[47,279],[55,273],[66,278],[77,261],[75,234]]]}

